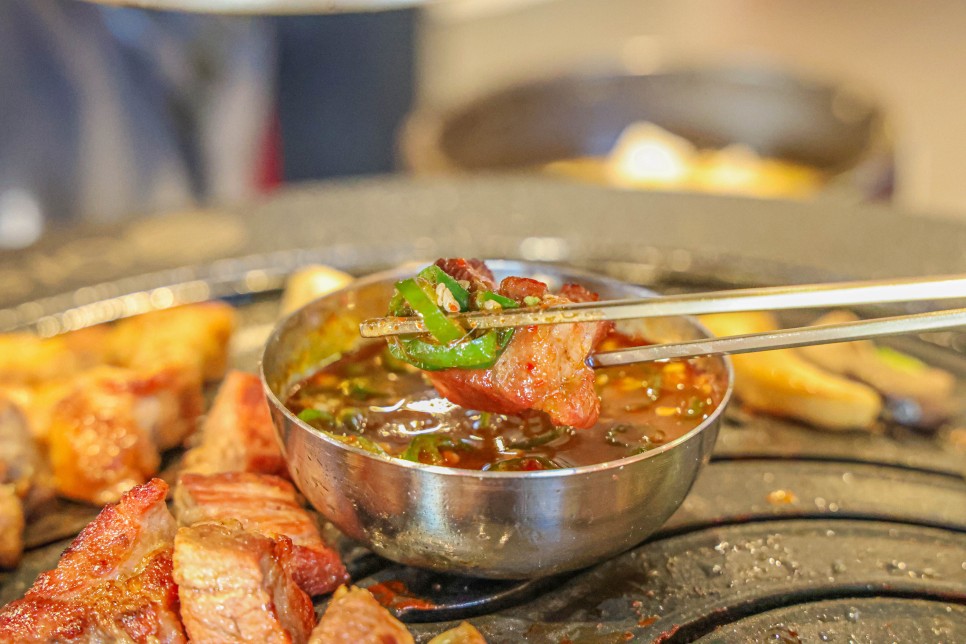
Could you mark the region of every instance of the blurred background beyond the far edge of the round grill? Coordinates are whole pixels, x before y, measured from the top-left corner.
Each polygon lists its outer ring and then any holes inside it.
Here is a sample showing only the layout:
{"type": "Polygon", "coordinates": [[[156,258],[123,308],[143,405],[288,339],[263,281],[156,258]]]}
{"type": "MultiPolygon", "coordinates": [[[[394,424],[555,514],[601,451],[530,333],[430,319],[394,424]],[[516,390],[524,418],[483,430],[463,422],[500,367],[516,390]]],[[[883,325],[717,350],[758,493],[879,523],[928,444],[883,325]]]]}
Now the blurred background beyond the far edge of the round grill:
{"type": "Polygon", "coordinates": [[[390,4],[225,17],[6,0],[0,247],[388,172],[966,217],[955,0],[390,4]]]}

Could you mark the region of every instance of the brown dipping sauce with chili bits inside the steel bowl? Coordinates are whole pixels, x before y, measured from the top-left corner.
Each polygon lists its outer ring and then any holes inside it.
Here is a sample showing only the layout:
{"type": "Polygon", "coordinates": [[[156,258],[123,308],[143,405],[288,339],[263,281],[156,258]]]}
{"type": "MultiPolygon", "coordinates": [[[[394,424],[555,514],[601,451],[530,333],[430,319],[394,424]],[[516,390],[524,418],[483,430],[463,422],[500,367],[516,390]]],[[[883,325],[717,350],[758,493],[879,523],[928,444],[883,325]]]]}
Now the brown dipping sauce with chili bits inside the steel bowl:
{"type": "MultiPolygon", "coordinates": [[[[598,351],[641,342],[612,333],[598,351]]],[[[555,427],[543,412],[464,409],[439,396],[423,372],[373,342],[299,383],[286,406],[343,442],[428,465],[528,471],[614,461],[672,441],[711,415],[727,383],[700,361],[598,369],[600,420],[555,427]]]]}

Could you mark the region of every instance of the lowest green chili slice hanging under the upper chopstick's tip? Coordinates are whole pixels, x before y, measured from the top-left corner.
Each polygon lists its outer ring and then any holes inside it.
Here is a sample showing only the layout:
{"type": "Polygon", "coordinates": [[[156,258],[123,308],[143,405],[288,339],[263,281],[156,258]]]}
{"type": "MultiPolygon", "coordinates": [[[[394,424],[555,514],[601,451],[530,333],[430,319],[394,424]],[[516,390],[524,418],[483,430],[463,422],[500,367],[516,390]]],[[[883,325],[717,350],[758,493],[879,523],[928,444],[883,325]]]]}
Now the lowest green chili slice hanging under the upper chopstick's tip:
{"type": "Polygon", "coordinates": [[[488,369],[496,363],[513,337],[513,329],[487,331],[483,335],[451,344],[436,344],[421,338],[393,337],[389,352],[399,360],[423,369],[488,369]]]}

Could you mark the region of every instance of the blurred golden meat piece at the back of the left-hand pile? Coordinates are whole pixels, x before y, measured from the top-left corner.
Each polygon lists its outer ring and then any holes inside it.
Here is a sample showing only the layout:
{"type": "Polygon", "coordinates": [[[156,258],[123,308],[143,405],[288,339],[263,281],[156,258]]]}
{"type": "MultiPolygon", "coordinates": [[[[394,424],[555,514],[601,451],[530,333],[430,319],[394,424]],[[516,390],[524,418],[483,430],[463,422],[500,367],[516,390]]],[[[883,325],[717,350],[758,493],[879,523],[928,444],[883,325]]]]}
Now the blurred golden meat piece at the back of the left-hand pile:
{"type": "Polygon", "coordinates": [[[205,380],[222,377],[235,310],[203,302],[145,313],[118,322],[112,333],[112,363],[137,370],[182,366],[205,380]]]}

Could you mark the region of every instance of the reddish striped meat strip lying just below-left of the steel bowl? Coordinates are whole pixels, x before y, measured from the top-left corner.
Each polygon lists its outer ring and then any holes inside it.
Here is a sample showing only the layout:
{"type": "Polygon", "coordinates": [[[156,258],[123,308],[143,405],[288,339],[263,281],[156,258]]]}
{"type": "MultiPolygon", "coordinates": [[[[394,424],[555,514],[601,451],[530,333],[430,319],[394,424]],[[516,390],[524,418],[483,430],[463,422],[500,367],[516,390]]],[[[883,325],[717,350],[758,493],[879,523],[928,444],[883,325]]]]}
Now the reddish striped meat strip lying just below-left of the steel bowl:
{"type": "Polygon", "coordinates": [[[339,554],[327,546],[295,488],[277,476],[228,472],[183,474],[174,495],[181,525],[237,520],[250,532],[292,541],[292,578],[310,595],[335,590],[348,580],[339,554]]]}

